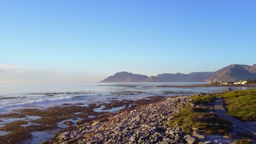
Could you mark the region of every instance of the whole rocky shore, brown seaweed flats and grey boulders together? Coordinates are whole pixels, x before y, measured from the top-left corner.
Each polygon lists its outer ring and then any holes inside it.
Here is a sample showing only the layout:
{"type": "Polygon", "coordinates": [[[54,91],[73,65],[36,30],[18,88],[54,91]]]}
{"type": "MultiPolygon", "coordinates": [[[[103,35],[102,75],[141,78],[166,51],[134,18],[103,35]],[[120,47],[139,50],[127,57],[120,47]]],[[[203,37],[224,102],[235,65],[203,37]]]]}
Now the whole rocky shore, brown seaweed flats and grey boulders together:
{"type": "MultiPolygon", "coordinates": [[[[184,133],[182,127],[172,127],[168,124],[173,118],[172,114],[179,113],[190,100],[189,96],[155,96],[136,101],[113,100],[112,103],[91,104],[85,107],[79,106],[82,105],[81,103],[50,107],[45,111],[36,109],[14,111],[0,117],[38,117],[0,127],[0,132],[10,131],[9,134],[0,136],[0,143],[189,143],[190,140],[203,143],[231,143],[234,141],[232,137],[209,136],[196,133],[196,130],[193,133],[184,133]],[[117,113],[95,111],[99,108],[110,110],[120,106],[124,109],[118,110],[117,113]],[[66,128],[56,129],[60,122],[63,122],[62,125],[66,125],[66,128]],[[42,135],[49,130],[55,134],[45,139],[47,141],[33,141],[32,133],[40,132],[38,135],[42,135]],[[214,139],[217,139],[217,142],[213,141],[214,139]]],[[[213,106],[209,108],[214,113],[213,106]]]]}

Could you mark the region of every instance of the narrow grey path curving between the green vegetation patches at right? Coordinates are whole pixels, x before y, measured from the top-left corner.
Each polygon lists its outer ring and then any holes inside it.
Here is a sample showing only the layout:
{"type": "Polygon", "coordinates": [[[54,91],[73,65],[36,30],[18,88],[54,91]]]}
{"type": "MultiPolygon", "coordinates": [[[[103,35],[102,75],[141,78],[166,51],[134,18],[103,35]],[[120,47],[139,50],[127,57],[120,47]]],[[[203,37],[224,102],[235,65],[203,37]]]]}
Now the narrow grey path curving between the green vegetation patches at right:
{"type": "Polygon", "coordinates": [[[216,114],[222,118],[225,118],[226,120],[230,121],[232,124],[235,124],[237,127],[240,127],[246,131],[251,132],[252,134],[256,135],[256,128],[255,126],[252,127],[251,125],[245,123],[245,122],[241,122],[238,119],[229,116],[224,107],[223,107],[223,103],[222,103],[223,99],[218,98],[216,100],[216,103],[214,105],[214,109],[216,110],[216,114]]]}

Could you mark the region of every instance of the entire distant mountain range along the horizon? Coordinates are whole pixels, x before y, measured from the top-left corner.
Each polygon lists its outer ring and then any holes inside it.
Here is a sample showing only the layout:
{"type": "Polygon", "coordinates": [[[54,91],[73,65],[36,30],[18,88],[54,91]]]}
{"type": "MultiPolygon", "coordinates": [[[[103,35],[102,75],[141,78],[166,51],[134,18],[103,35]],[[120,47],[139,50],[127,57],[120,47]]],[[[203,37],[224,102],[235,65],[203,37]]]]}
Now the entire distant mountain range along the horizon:
{"type": "Polygon", "coordinates": [[[147,76],[127,73],[116,73],[100,82],[210,82],[210,81],[239,81],[256,79],[256,64],[232,64],[214,72],[194,72],[190,74],[159,74],[147,76]]]}

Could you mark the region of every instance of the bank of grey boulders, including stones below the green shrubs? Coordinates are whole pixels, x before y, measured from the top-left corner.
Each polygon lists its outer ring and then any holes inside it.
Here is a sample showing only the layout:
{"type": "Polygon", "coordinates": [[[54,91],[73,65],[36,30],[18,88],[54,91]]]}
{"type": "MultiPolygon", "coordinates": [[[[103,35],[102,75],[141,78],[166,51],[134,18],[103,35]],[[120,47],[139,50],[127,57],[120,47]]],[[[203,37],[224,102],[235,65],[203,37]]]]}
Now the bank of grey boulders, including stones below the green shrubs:
{"type": "MultiPolygon", "coordinates": [[[[46,143],[231,143],[235,136],[205,135],[185,132],[183,127],[169,123],[173,113],[179,113],[191,97],[173,97],[134,109],[120,111],[106,121],[93,121],[68,128],[46,143]]],[[[197,106],[198,107],[198,106],[197,106]]],[[[214,113],[213,107],[208,107],[214,113]]],[[[237,130],[236,130],[237,131],[237,130]]],[[[243,131],[243,133],[246,133],[243,131]]],[[[237,135],[236,135],[237,136],[237,135]]],[[[236,137],[237,138],[237,137],[236,137]]],[[[254,137],[255,138],[255,137],[254,137]]]]}

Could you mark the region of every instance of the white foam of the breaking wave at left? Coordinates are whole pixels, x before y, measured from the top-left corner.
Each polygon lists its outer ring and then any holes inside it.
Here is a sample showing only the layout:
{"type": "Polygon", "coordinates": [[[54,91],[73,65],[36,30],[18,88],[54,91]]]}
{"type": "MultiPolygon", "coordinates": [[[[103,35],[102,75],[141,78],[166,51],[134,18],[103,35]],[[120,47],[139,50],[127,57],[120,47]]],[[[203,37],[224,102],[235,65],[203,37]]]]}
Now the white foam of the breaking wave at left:
{"type": "Polygon", "coordinates": [[[17,107],[17,106],[26,106],[26,105],[34,105],[34,104],[44,104],[44,103],[53,103],[53,102],[59,102],[59,101],[68,101],[72,100],[73,97],[60,97],[60,98],[54,98],[54,99],[38,99],[38,100],[31,100],[31,101],[24,101],[21,103],[16,104],[7,104],[0,106],[0,109],[9,108],[9,107],[17,107]]]}

